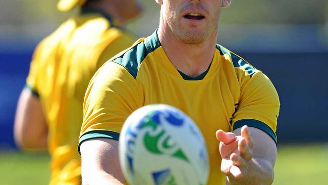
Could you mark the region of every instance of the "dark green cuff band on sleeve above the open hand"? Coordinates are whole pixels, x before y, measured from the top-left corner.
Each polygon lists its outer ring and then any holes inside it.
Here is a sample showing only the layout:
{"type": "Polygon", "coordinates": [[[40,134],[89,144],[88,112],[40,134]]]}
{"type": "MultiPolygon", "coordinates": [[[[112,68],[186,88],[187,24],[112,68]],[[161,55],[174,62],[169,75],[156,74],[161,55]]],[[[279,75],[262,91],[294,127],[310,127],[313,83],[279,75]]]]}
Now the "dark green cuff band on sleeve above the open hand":
{"type": "Polygon", "coordinates": [[[255,127],[255,128],[258,128],[258,129],[264,131],[272,138],[272,140],[275,141],[276,146],[278,145],[276,133],[265,123],[255,120],[255,119],[242,119],[242,120],[236,121],[234,123],[233,130],[235,130],[237,128],[241,128],[244,125],[247,125],[249,127],[255,127]]]}

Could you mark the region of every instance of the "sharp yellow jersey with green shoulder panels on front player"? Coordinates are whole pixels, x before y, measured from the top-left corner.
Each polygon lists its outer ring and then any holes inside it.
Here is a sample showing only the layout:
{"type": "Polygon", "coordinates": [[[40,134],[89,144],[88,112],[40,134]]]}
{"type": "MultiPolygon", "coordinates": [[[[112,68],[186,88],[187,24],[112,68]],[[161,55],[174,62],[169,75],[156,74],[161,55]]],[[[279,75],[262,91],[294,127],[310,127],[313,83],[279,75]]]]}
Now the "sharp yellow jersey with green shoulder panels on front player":
{"type": "Polygon", "coordinates": [[[248,125],[263,130],[277,143],[279,97],[261,71],[216,45],[208,70],[187,79],[170,62],[155,31],[106,62],[92,77],[79,145],[96,137],[118,140],[126,118],[149,104],[177,107],[198,125],[210,159],[208,184],[226,183],[220,170],[217,129],[233,131],[248,125]]]}

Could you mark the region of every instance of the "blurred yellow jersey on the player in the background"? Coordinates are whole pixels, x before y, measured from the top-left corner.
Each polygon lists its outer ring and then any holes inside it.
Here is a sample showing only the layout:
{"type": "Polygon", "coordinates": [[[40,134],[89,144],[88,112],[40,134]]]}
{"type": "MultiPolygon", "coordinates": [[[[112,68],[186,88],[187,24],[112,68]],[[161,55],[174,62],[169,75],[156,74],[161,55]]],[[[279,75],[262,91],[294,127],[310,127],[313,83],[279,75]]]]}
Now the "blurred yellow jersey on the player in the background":
{"type": "Polygon", "coordinates": [[[39,96],[48,125],[50,184],[81,184],[77,146],[85,90],[94,72],[134,41],[101,13],[85,12],[37,46],[26,87],[39,96]]]}

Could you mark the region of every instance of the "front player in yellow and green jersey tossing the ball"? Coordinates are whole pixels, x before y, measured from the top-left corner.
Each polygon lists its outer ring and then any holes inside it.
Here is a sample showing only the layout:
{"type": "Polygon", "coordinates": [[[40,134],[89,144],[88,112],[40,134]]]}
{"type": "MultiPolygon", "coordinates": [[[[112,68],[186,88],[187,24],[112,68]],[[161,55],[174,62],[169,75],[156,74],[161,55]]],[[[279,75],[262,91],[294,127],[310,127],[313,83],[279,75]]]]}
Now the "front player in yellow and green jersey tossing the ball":
{"type": "Polygon", "coordinates": [[[78,147],[82,181],[124,183],[118,157],[124,121],[145,105],[169,104],[204,135],[207,184],[272,183],[279,97],[260,70],[216,44],[221,10],[231,0],[156,3],[158,30],[106,62],[89,83],[78,147]]]}

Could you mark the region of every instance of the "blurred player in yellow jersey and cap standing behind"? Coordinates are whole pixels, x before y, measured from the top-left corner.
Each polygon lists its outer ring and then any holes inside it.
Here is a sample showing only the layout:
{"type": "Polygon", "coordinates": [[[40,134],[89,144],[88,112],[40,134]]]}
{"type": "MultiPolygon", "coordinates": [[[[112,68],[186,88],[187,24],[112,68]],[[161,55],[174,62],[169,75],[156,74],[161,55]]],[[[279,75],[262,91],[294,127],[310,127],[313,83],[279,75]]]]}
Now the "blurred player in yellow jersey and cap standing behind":
{"type": "Polygon", "coordinates": [[[81,184],[77,144],[85,90],[105,61],[136,40],[122,27],[142,5],[138,0],[60,0],[58,8],[81,12],[35,49],[18,103],[15,138],[23,149],[48,148],[50,184],[81,184]]]}

